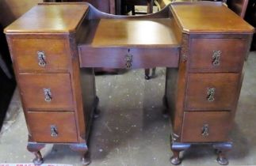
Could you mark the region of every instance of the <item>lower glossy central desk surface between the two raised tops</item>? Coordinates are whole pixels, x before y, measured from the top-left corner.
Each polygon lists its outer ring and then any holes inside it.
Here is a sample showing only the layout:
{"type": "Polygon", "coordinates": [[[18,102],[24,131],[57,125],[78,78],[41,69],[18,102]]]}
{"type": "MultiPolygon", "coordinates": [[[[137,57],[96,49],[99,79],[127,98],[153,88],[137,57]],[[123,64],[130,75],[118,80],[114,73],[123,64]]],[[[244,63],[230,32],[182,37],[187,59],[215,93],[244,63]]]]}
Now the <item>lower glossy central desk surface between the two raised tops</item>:
{"type": "Polygon", "coordinates": [[[174,34],[174,19],[101,19],[94,27],[93,47],[179,46],[174,34]]]}

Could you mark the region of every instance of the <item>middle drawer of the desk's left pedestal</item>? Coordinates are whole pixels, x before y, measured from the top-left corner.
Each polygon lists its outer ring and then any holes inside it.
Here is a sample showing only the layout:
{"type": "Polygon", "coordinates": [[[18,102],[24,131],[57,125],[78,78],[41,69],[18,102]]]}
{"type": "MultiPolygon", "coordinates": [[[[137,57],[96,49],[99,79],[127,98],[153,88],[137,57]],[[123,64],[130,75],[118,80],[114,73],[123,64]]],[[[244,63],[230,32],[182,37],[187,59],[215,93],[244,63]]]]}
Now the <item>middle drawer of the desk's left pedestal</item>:
{"type": "Polygon", "coordinates": [[[73,110],[70,74],[19,74],[18,79],[29,111],[73,110]]]}

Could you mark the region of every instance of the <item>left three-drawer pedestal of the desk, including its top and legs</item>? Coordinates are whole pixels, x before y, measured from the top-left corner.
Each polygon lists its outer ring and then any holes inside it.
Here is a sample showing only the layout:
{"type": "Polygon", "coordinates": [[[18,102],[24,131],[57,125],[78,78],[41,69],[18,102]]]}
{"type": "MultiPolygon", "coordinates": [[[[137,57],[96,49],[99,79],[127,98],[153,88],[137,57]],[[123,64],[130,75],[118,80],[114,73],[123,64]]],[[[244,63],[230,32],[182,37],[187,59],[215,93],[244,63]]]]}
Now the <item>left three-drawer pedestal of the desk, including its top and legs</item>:
{"type": "Polygon", "coordinates": [[[43,163],[40,149],[45,144],[69,145],[81,153],[82,164],[90,164],[87,139],[98,98],[94,70],[80,71],[77,47],[87,9],[86,4],[41,4],[21,21],[32,21],[29,27],[43,23],[46,29],[6,32],[29,130],[27,149],[35,154],[34,164],[43,163]],[[41,18],[39,22],[33,20],[36,17],[41,18]],[[61,30],[52,31],[55,25],[61,30]]]}

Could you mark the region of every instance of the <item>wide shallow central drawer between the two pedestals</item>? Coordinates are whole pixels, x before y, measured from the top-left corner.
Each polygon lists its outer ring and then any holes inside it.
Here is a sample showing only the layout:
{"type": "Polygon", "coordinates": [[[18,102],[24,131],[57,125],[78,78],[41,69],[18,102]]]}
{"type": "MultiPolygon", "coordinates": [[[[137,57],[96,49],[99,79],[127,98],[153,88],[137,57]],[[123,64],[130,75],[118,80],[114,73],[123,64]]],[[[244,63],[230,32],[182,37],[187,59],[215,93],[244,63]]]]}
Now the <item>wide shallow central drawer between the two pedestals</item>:
{"type": "Polygon", "coordinates": [[[179,50],[177,47],[128,48],[81,45],[78,48],[81,67],[128,69],[151,68],[155,66],[178,67],[179,50]]]}

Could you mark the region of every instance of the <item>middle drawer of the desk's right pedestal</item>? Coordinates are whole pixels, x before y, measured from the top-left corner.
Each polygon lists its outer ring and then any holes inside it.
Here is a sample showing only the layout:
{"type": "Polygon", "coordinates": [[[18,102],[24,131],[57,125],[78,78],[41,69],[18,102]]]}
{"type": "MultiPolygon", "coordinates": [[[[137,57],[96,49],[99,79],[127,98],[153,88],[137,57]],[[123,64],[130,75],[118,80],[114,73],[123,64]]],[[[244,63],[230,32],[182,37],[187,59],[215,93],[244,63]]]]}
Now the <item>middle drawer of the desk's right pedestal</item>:
{"type": "Polygon", "coordinates": [[[231,110],[239,91],[239,74],[189,74],[185,110],[231,110]]]}

